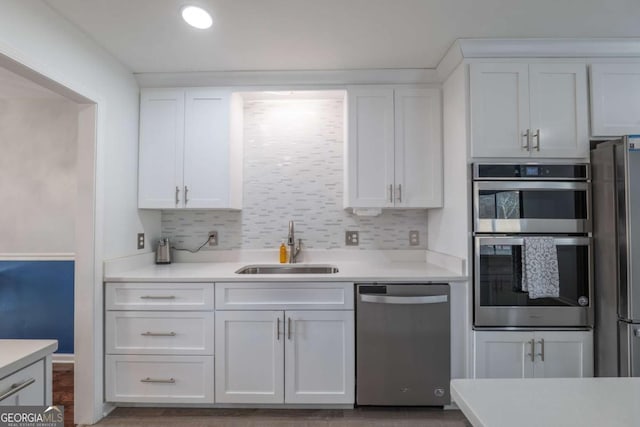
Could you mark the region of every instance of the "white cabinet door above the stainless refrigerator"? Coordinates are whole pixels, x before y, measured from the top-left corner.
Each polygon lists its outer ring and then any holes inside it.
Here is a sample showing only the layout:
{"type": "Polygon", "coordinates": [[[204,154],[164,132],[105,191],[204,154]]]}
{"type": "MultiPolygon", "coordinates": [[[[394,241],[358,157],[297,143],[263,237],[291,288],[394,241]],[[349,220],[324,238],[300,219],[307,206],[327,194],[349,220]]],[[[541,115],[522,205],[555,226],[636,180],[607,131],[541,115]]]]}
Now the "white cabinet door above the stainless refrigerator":
{"type": "Polygon", "coordinates": [[[640,64],[591,66],[593,136],[640,133],[640,64]]]}

